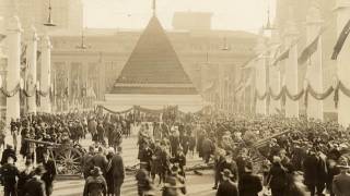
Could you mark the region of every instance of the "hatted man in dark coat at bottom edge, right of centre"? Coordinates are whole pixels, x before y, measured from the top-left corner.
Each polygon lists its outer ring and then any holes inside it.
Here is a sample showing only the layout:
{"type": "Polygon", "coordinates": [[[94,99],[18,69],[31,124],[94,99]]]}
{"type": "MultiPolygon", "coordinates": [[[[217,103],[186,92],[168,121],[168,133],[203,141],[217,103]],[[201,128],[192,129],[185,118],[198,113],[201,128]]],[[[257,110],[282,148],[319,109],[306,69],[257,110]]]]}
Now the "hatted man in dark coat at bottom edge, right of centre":
{"type": "Polygon", "coordinates": [[[232,172],[229,169],[224,169],[222,172],[222,182],[219,185],[217,196],[238,196],[238,188],[230,180],[231,177],[233,177],[232,172]]]}

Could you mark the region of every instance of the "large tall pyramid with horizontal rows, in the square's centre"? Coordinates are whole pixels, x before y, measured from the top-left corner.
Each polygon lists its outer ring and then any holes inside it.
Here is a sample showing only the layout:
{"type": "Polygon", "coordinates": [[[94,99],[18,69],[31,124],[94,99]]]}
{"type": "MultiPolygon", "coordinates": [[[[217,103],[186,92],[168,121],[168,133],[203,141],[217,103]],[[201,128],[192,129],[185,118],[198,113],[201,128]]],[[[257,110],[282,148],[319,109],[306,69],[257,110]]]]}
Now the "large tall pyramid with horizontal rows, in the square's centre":
{"type": "Polygon", "coordinates": [[[198,95],[156,16],[152,16],[110,94],[198,95]]]}

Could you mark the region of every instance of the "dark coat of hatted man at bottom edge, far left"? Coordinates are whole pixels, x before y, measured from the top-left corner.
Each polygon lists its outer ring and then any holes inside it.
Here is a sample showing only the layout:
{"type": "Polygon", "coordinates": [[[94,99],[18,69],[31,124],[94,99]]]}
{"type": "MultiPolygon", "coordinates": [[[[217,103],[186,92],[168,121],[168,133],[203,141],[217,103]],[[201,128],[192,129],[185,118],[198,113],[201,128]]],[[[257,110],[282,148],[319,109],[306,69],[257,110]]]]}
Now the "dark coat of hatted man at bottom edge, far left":
{"type": "Polygon", "coordinates": [[[24,184],[23,195],[46,196],[45,183],[42,180],[31,179],[24,184]]]}

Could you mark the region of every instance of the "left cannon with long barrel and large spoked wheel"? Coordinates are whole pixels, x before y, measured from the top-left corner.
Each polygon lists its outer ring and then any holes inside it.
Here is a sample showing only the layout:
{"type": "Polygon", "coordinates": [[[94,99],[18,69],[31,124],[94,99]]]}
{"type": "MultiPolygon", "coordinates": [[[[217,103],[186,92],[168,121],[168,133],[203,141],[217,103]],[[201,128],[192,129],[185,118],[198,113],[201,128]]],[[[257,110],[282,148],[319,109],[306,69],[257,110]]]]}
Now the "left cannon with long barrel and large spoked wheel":
{"type": "Polygon", "coordinates": [[[24,140],[36,145],[43,145],[47,148],[50,158],[56,163],[56,172],[58,176],[81,175],[80,162],[86,151],[80,145],[71,143],[57,144],[30,138],[25,138],[24,140]]]}

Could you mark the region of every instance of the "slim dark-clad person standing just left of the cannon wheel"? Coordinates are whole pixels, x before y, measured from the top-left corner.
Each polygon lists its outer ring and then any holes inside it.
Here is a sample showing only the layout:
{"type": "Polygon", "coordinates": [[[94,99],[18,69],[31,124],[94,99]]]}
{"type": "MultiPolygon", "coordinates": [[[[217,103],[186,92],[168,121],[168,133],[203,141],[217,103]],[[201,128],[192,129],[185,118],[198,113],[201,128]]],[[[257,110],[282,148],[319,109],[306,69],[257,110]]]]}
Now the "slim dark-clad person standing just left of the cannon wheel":
{"type": "Polygon", "coordinates": [[[45,188],[46,188],[46,195],[50,196],[52,194],[54,188],[54,181],[56,179],[56,163],[54,160],[49,159],[48,151],[44,151],[44,161],[43,166],[45,169],[45,172],[42,176],[42,180],[45,182],[45,188]]]}

